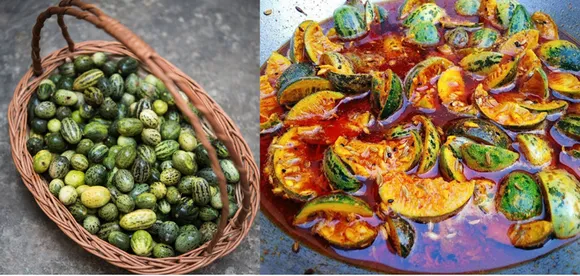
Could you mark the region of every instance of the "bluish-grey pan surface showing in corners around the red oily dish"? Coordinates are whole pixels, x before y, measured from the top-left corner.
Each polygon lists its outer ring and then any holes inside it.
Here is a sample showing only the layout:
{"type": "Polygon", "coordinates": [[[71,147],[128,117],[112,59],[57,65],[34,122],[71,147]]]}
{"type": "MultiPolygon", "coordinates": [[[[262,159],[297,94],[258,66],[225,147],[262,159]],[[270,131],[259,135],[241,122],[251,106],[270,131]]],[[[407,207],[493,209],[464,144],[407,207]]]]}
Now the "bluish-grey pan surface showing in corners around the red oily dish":
{"type": "MultiPolygon", "coordinates": [[[[380,1],[380,0],[377,0],[380,1]]],[[[558,26],[580,39],[580,8],[576,5],[578,0],[520,0],[531,12],[543,10],[550,14],[558,26]]],[[[325,8],[318,3],[325,3],[330,7],[337,7],[344,0],[325,1],[276,1],[260,0],[260,64],[262,64],[272,51],[278,49],[286,42],[294,32],[298,24],[306,19],[321,20],[332,16],[334,8],[325,8]],[[295,6],[300,7],[306,14],[300,14],[295,6]],[[271,9],[269,16],[264,11],[271,9]]],[[[334,259],[320,255],[305,246],[299,253],[292,251],[294,240],[281,232],[263,214],[259,216],[260,223],[260,250],[261,266],[263,274],[302,274],[313,272],[320,274],[368,274],[367,270],[356,268],[334,259]]],[[[511,269],[499,271],[506,274],[577,274],[580,272],[580,241],[556,250],[555,252],[539,260],[517,266],[511,269]]]]}

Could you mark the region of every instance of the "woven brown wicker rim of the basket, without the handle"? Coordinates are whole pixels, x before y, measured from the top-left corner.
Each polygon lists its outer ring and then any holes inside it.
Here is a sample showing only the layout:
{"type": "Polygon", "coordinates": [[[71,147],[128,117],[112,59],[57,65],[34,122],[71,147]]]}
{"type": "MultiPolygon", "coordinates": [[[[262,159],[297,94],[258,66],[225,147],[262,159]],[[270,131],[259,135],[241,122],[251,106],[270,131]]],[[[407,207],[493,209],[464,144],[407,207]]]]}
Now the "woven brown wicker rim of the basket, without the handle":
{"type": "MultiPolygon", "coordinates": [[[[187,252],[183,255],[163,259],[140,257],[122,251],[119,248],[86,231],[78,222],[76,222],[67,208],[49,192],[47,181],[33,172],[32,157],[26,150],[26,139],[22,139],[27,137],[27,131],[25,130],[28,129],[26,117],[30,96],[36,90],[40,80],[45,79],[58,67],[58,65],[62,64],[67,58],[94,52],[105,52],[113,55],[127,55],[139,60],[139,58],[125,45],[117,41],[90,40],[76,43],[74,52],[70,52],[67,47],[63,47],[44,57],[42,59],[42,67],[45,68],[44,73],[39,77],[34,77],[32,68],[30,68],[20,80],[14,91],[14,96],[10,102],[8,110],[11,151],[14,164],[16,165],[16,168],[20,173],[24,184],[32,193],[36,203],[39,205],[39,207],[41,207],[42,211],[57,224],[61,231],[63,231],[77,244],[82,246],[83,249],[115,266],[127,269],[131,272],[143,274],[187,273],[204,267],[212,263],[217,258],[231,253],[248,234],[259,210],[259,169],[255,164],[252,152],[249,150],[247,143],[241,136],[239,129],[233,123],[231,118],[229,118],[229,116],[225,113],[225,111],[223,111],[221,106],[219,106],[207,94],[207,92],[203,90],[203,88],[197,85],[195,81],[193,81],[167,60],[163,61],[174,70],[172,73],[178,75],[189,84],[194,86],[195,89],[193,90],[195,91],[196,96],[202,97],[205,105],[210,105],[211,108],[209,108],[209,110],[212,112],[212,115],[223,120],[224,125],[228,127],[230,134],[232,134],[233,142],[236,144],[237,153],[242,156],[244,167],[246,167],[248,170],[248,183],[250,185],[249,189],[251,191],[252,202],[248,216],[243,221],[243,224],[240,225],[240,227],[235,227],[234,221],[237,220],[237,216],[240,214],[241,208],[238,210],[238,212],[236,212],[235,216],[229,220],[226,228],[224,229],[223,236],[216,244],[216,247],[211,254],[207,254],[205,251],[209,242],[206,242],[197,249],[187,252]],[[242,153],[240,153],[240,151],[242,151],[242,153]],[[30,171],[32,171],[32,174],[29,173],[30,171]],[[50,213],[51,209],[61,211],[61,213],[50,213]],[[63,210],[64,212],[62,212],[63,210]],[[199,258],[202,259],[199,260],[199,258]]],[[[143,63],[141,63],[141,66],[143,70],[148,72],[148,68],[143,66],[143,63]]],[[[239,206],[241,207],[242,205],[240,204],[240,201],[243,194],[241,192],[240,186],[240,184],[236,185],[236,199],[239,206]]]]}

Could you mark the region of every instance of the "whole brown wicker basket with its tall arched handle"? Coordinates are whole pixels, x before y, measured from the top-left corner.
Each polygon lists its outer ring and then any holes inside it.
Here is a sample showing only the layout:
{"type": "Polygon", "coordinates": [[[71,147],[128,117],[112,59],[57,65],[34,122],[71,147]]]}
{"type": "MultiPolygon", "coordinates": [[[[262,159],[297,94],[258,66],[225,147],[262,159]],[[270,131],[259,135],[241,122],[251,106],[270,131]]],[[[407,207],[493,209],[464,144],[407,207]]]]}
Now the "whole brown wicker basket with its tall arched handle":
{"type": "Polygon", "coordinates": [[[63,0],[58,7],[50,7],[38,16],[33,28],[32,37],[33,68],[28,70],[14,91],[14,98],[8,109],[10,143],[12,158],[22,176],[26,187],[34,199],[58,227],[76,243],[90,253],[118,267],[142,274],[182,274],[206,266],[236,248],[247,235],[258,211],[259,193],[258,167],[254,162],[248,145],[244,142],[239,129],[208,95],[191,78],[160,57],[143,40],[137,37],[118,21],[103,14],[94,5],[79,0],[63,0]],[[103,29],[119,42],[87,41],[75,44],[70,38],[64,24],[64,15],[71,15],[94,24],[103,29]],[[58,16],[62,35],[68,43],[67,48],[55,51],[40,59],[40,31],[46,19],[58,16]],[[36,174],[32,168],[32,157],[26,149],[27,140],[27,103],[42,79],[67,58],[81,54],[106,52],[110,55],[127,55],[138,59],[141,70],[151,72],[161,79],[175,98],[177,107],[189,117],[196,133],[207,133],[221,140],[232,153],[232,161],[240,172],[240,183],[236,186],[236,198],[240,209],[228,222],[228,200],[225,177],[220,169],[215,149],[205,135],[198,135],[201,144],[207,149],[211,167],[216,172],[224,208],[222,209],[219,230],[214,239],[186,254],[163,259],[139,257],[129,254],[117,247],[91,235],[77,223],[67,208],[48,190],[45,179],[36,174]],[[193,114],[178,93],[178,88],[185,92],[190,101],[203,114],[204,121],[193,114]]]}

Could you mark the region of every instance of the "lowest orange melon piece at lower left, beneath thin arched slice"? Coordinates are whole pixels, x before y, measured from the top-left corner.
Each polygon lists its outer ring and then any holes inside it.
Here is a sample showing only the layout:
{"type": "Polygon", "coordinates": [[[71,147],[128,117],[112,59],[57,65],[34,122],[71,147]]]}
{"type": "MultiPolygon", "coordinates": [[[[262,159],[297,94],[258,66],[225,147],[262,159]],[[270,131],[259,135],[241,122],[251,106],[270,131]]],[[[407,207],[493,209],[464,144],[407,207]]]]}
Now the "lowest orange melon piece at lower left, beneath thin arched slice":
{"type": "Polygon", "coordinates": [[[345,249],[361,249],[373,243],[379,233],[376,227],[364,220],[324,220],[313,231],[330,244],[345,249]]]}

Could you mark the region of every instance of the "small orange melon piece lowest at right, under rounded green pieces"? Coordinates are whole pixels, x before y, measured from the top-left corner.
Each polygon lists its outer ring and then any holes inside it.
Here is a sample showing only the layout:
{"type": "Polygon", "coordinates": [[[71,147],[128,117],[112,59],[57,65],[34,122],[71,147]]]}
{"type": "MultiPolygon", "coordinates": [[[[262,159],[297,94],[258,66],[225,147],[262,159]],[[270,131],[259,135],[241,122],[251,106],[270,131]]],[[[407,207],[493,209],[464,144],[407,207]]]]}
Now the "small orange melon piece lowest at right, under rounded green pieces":
{"type": "Polygon", "coordinates": [[[544,245],[554,233],[552,223],[545,220],[512,224],[508,229],[508,237],[517,248],[536,248],[544,245]]]}

